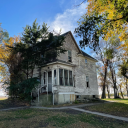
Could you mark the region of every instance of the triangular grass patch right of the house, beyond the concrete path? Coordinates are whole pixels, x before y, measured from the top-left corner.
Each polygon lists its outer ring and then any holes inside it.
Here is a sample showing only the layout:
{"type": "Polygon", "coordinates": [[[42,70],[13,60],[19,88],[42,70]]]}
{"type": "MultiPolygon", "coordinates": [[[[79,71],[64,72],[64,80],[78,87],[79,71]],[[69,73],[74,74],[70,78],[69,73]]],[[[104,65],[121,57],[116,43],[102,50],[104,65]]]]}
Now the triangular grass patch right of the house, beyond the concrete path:
{"type": "Polygon", "coordinates": [[[128,99],[104,99],[114,101],[106,104],[83,107],[86,110],[107,113],[116,116],[128,117],[128,99]]]}

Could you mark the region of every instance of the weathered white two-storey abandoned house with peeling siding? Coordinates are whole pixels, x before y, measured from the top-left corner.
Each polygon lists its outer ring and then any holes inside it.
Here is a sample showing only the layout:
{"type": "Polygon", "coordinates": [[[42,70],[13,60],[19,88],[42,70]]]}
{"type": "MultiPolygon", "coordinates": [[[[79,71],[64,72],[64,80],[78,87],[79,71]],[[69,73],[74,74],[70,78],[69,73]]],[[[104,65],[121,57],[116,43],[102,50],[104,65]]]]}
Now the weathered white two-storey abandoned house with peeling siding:
{"type": "MultiPolygon", "coordinates": [[[[62,104],[99,95],[95,64],[97,60],[80,50],[70,31],[63,36],[63,47],[67,52],[60,54],[55,62],[41,68],[40,85],[32,92],[33,96],[37,96],[33,102],[35,105],[62,104]]],[[[35,69],[34,76],[37,74],[35,69]]]]}

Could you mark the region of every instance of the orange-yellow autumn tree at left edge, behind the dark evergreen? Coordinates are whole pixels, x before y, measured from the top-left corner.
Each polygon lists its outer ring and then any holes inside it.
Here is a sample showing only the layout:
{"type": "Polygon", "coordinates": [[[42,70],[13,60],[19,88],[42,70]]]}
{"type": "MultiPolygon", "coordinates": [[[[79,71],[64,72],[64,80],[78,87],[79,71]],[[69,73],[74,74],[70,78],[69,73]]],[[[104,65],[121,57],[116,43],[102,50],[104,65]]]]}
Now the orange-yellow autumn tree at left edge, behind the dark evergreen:
{"type": "Polygon", "coordinates": [[[14,37],[8,37],[8,40],[2,40],[0,45],[0,74],[1,74],[1,83],[2,87],[4,89],[7,88],[9,85],[10,77],[13,75],[11,74],[11,70],[13,67],[16,66],[18,59],[15,59],[14,61],[14,55],[12,55],[10,48],[12,47],[16,42],[20,42],[19,36],[14,37]]]}

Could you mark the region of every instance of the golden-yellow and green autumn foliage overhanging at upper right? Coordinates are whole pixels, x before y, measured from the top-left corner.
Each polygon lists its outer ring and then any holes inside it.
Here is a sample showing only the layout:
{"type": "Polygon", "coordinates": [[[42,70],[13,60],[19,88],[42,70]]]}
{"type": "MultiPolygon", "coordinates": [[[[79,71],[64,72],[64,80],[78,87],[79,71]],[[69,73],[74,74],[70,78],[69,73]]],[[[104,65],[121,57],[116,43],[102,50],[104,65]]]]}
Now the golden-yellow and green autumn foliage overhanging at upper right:
{"type": "MultiPolygon", "coordinates": [[[[88,46],[97,52],[101,38],[108,41],[110,37],[118,35],[122,42],[118,48],[123,48],[125,56],[128,56],[128,1],[84,0],[83,2],[88,2],[87,13],[81,17],[78,21],[79,27],[75,29],[76,36],[82,37],[79,41],[81,48],[88,46]]],[[[108,53],[111,52],[109,49],[108,53]]],[[[123,62],[120,70],[126,77],[127,61],[123,62]]],[[[108,59],[105,61],[105,67],[108,67],[108,59]]],[[[107,68],[105,71],[107,74],[107,68]]],[[[103,88],[102,98],[105,98],[105,82],[103,88]]]]}

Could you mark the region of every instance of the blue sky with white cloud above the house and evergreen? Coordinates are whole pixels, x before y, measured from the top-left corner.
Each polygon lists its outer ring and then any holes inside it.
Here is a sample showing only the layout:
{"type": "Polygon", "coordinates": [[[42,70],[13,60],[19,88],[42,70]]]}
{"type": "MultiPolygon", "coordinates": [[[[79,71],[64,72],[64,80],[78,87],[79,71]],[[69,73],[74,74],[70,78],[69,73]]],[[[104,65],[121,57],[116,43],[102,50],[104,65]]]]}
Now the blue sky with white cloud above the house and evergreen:
{"type": "MultiPolygon", "coordinates": [[[[42,25],[47,23],[49,29],[59,32],[71,31],[78,27],[77,21],[86,13],[88,3],[83,0],[0,0],[0,23],[10,37],[22,36],[23,27],[32,25],[35,19],[42,25]]],[[[75,36],[75,35],[74,35],[75,36]]],[[[76,38],[79,45],[80,38],[76,38]]],[[[89,48],[84,50],[91,54],[89,48]]],[[[0,92],[1,94],[1,92],[0,92]]]]}

